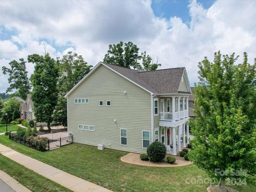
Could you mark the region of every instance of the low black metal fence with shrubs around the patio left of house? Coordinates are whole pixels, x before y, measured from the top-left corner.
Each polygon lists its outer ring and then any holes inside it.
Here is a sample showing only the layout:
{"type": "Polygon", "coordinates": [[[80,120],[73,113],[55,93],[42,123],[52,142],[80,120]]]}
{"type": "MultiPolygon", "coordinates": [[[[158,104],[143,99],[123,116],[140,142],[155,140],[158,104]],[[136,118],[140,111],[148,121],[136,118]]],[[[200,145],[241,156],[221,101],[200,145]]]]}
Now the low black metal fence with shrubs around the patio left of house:
{"type": "Polygon", "coordinates": [[[59,138],[59,139],[37,140],[31,137],[29,138],[19,137],[17,136],[16,133],[9,133],[9,139],[17,143],[20,143],[21,145],[24,145],[39,151],[51,150],[54,148],[62,147],[62,146],[73,143],[73,135],[64,137],[64,138],[59,138]]]}

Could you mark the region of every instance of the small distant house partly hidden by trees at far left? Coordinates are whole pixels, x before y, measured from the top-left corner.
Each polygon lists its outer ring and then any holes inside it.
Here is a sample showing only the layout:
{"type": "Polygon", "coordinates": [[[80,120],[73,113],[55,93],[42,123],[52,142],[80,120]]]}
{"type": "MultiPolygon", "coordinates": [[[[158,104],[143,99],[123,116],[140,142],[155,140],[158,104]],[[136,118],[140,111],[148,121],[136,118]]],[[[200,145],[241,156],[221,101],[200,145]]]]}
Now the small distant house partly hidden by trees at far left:
{"type": "Polygon", "coordinates": [[[27,119],[27,121],[34,120],[34,103],[31,100],[31,94],[27,95],[26,102],[20,103],[20,116],[22,119],[27,119]]]}

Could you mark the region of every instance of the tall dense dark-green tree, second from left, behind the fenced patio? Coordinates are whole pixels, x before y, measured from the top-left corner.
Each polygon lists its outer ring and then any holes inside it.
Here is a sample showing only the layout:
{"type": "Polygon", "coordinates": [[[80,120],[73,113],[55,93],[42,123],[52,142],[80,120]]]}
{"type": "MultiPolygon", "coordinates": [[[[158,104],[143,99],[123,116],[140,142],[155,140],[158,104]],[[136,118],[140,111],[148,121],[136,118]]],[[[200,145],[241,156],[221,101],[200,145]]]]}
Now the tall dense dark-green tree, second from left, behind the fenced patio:
{"type": "Polygon", "coordinates": [[[35,63],[34,74],[31,75],[33,91],[31,99],[34,102],[37,122],[46,122],[51,130],[53,110],[57,103],[58,66],[49,53],[45,55],[28,55],[28,62],[35,63]]]}

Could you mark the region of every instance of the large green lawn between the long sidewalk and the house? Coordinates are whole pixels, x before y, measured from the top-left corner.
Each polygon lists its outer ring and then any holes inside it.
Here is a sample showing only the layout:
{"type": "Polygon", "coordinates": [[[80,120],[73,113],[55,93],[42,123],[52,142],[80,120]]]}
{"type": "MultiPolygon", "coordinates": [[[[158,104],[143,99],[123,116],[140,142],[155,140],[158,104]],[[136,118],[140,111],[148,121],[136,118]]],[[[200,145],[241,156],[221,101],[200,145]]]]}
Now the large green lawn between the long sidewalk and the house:
{"type": "MultiPolygon", "coordinates": [[[[148,167],[123,163],[123,151],[80,145],[39,152],[0,136],[0,142],[20,153],[114,191],[205,191],[209,184],[186,184],[186,179],[208,178],[194,164],[181,167],[148,167]]],[[[256,191],[255,186],[234,187],[256,191]]]]}

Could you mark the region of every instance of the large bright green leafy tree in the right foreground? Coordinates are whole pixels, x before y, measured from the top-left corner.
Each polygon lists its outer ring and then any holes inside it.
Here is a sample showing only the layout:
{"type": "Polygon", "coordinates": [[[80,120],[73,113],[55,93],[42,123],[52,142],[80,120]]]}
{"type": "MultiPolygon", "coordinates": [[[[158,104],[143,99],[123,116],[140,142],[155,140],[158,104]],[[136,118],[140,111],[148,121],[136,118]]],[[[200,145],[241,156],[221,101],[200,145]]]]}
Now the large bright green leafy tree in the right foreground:
{"type": "Polygon", "coordinates": [[[256,59],[250,65],[244,53],[243,63],[235,65],[237,58],[219,51],[213,62],[206,57],[199,62],[196,118],[189,122],[194,136],[189,157],[221,181],[222,190],[226,179],[255,181],[256,175],[256,59]],[[247,174],[234,175],[241,170],[247,174]]]}

